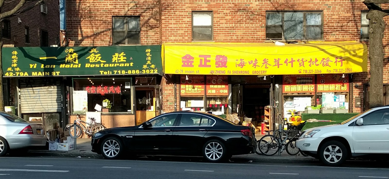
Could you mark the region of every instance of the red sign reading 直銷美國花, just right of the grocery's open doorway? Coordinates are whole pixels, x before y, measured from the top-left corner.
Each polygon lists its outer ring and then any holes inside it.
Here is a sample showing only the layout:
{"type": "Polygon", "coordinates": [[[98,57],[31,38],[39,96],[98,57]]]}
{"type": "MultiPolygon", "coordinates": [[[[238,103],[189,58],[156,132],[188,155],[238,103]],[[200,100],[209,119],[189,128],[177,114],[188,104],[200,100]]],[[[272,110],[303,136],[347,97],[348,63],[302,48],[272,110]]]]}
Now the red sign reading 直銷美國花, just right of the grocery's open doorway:
{"type": "Polygon", "coordinates": [[[283,93],[315,92],[315,75],[283,75],[283,93]]]}

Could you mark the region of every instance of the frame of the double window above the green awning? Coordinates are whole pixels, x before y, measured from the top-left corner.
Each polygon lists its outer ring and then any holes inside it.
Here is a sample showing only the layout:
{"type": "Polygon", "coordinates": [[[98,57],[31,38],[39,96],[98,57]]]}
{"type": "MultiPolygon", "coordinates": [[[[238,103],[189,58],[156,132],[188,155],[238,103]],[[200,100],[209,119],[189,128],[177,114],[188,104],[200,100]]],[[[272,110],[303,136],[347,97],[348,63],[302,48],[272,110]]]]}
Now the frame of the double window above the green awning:
{"type": "Polygon", "coordinates": [[[112,16],[112,44],[113,45],[140,45],[141,38],[141,24],[140,24],[140,16],[112,16]],[[123,19],[124,20],[124,30],[115,30],[114,28],[114,19],[123,19]],[[128,19],[138,19],[139,29],[138,30],[128,30],[128,19]],[[114,43],[115,32],[124,32],[124,43],[114,43]],[[137,32],[139,35],[138,43],[128,43],[128,32],[137,32]]]}

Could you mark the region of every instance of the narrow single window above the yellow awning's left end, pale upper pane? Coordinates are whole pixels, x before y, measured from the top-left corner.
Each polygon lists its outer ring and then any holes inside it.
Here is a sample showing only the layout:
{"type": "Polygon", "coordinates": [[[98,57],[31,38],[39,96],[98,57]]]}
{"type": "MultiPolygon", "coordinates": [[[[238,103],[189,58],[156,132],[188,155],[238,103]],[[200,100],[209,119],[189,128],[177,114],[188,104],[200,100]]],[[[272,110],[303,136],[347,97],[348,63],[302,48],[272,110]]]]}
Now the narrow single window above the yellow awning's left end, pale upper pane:
{"type": "Polygon", "coordinates": [[[192,40],[213,40],[212,12],[192,12],[192,40]]]}

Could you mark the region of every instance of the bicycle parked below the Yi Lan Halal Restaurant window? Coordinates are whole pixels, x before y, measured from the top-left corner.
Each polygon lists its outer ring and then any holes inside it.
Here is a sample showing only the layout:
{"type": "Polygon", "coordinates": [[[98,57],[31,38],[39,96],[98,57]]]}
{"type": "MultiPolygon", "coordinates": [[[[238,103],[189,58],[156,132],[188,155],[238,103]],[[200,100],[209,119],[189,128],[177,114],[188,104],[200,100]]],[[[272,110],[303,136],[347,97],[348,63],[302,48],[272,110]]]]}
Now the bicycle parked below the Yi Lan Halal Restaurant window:
{"type": "Polygon", "coordinates": [[[80,115],[77,115],[76,124],[70,123],[66,125],[65,131],[69,131],[72,137],[79,138],[82,137],[83,134],[86,134],[91,137],[96,132],[107,129],[101,123],[97,123],[95,118],[89,118],[89,121],[90,122],[85,122],[81,120],[80,115]],[[82,123],[85,123],[88,127],[85,127],[85,125],[83,125],[82,123]]]}

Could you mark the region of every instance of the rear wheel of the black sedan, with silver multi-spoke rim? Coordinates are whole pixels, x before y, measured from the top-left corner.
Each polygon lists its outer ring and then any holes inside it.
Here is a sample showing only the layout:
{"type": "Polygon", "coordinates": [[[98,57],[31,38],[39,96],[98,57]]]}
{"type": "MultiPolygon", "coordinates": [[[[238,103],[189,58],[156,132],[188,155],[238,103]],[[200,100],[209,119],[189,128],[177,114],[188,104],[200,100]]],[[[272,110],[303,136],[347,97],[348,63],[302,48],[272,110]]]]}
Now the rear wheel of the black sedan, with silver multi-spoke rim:
{"type": "Polygon", "coordinates": [[[227,153],[227,148],[223,142],[212,139],[203,146],[203,157],[208,162],[225,162],[230,160],[231,155],[227,153]]]}

